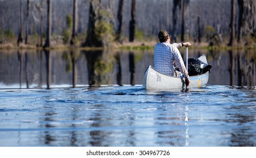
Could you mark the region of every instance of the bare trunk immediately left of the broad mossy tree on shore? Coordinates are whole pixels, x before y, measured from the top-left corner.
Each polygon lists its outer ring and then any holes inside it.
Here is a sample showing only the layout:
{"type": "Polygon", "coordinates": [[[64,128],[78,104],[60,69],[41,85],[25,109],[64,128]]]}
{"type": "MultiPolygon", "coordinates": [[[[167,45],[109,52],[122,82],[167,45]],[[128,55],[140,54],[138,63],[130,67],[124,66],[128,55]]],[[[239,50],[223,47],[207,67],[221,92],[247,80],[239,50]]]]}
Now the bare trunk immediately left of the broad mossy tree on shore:
{"type": "Polygon", "coordinates": [[[78,29],[78,1],[74,0],[73,5],[73,29],[72,29],[72,39],[70,41],[71,45],[74,45],[74,39],[77,37],[77,29],[78,29]]]}

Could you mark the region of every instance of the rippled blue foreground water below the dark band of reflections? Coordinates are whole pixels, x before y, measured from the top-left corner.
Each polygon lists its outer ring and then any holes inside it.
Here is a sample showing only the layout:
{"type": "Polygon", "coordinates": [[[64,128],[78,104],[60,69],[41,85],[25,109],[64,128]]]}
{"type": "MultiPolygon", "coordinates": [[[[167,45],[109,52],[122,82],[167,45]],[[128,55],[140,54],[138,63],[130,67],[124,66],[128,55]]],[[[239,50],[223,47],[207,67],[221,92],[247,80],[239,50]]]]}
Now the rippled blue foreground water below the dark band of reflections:
{"type": "Polygon", "coordinates": [[[255,146],[256,89],[0,90],[0,146],[255,146]]]}

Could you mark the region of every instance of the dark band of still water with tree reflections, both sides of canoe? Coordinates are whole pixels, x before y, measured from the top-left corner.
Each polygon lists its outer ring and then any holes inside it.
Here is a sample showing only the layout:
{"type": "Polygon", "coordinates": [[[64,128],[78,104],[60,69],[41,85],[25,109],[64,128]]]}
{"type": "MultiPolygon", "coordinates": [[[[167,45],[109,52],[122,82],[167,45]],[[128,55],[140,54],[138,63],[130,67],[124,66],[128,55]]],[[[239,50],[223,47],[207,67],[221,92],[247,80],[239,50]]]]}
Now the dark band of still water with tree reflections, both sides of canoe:
{"type": "MultiPolygon", "coordinates": [[[[89,86],[140,85],[145,69],[153,59],[151,52],[121,50],[2,52],[0,57],[5,62],[1,62],[0,82],[12,86],[17,84],[16,88],[20,89],[25,86],[23,84],[31,88],[34,84],[42,87],[45,82],[47,89],[53,84],[70,84],[73,87],[79,83],[89,86]],[[65,71],[62,71],[64,67],[65,71]]],[[[213,67],[208,84],[255,87],[254,50],[195,50],[190,52],[191,58],[202,53],[207,55],[208,63],[213,67]]]]}

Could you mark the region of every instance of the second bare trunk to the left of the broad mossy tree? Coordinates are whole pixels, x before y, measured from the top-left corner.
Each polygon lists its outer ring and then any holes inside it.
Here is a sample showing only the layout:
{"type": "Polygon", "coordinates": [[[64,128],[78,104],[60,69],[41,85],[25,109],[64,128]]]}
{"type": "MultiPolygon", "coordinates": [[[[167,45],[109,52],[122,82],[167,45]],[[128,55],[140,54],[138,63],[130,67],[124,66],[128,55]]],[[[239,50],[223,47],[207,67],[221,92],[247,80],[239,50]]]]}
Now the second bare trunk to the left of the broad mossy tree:
{"type": "Polygon", "coordinates": [[[47,35],[44,47],[51,47],[52,35],[52,0],[47,0],[47,35]]]}

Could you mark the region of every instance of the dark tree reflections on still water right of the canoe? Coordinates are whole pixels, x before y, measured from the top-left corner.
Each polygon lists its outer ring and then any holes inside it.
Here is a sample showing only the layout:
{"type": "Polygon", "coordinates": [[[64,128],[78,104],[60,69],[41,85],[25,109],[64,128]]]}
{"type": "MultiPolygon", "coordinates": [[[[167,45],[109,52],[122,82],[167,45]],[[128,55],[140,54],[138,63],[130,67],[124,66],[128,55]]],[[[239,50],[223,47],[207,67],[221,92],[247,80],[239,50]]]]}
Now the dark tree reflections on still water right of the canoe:
{"type": "Polygon", "coordinates": [[[212,72],[217,75],[210,74],[209,80],[221,85],[254,87],[255,56],[253,50],[210,50],[207,60],[212,61],[210,62],[213,66],[212,72]]]}

